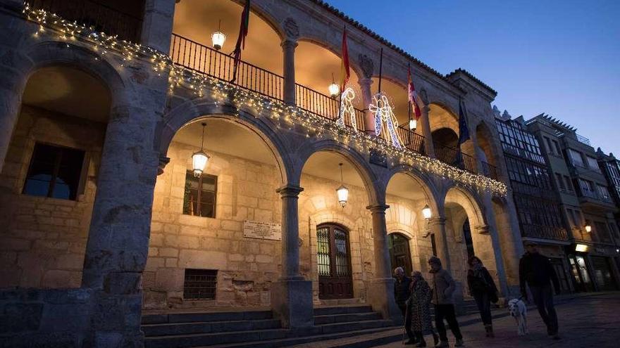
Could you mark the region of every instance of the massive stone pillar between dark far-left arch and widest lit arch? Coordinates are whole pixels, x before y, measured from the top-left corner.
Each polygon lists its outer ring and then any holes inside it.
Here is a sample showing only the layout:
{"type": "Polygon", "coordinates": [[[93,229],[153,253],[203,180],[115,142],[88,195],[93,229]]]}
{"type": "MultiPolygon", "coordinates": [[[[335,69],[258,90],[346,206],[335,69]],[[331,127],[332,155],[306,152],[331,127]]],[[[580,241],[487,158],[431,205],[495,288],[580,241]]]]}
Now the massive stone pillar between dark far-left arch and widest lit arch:
{"type": "Polygon", "coordinates": [[[82,272],[82,288],[96,294],[90,320],[93,347],[143,344],[142,272],[159,165],[152,144],[166,77],[147,84],[115,91],[126,101],[113,105],[106,129],[82,272]]]}

